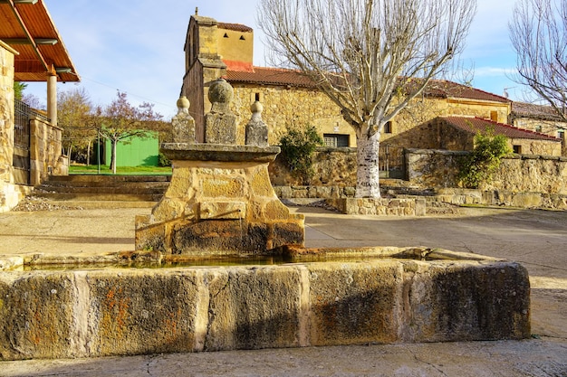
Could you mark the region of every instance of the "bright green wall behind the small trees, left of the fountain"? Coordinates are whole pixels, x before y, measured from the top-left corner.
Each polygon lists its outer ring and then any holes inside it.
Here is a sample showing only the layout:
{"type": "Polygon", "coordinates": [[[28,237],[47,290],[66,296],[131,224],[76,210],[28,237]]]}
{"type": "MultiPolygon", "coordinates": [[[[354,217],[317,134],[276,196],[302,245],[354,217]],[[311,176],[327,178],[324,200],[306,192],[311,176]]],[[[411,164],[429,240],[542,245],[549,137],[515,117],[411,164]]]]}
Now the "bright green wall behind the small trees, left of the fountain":
{"type": "MultiPolygon", "coordinates": [[[[106,163],[111,164],[111,141],[106,141],[106,163]]],[[[158,166],[159,137],[152,133],[148,138],[131,137],[116,146],[117,166],[158,166]]]]}

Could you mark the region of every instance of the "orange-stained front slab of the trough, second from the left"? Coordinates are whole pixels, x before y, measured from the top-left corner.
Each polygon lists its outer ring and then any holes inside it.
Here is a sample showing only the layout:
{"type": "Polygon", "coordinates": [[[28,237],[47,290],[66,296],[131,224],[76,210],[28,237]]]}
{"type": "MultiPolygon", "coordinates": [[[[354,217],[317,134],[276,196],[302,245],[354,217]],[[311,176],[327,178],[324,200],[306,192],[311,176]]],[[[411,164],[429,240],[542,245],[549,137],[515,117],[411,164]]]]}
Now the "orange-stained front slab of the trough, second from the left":
{"type": "Polygon", "coordinates": [[[196,270],[89,272],[84,278],[86,353],[194,351],[199,286],[196,270]]]}

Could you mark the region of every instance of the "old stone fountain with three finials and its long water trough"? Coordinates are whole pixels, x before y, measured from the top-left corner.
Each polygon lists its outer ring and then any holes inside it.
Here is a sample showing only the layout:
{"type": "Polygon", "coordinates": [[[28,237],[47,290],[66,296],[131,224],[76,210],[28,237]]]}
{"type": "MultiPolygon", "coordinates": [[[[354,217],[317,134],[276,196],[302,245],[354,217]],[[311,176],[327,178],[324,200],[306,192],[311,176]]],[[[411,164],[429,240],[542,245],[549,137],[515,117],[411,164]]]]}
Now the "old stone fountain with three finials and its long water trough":
{"type": "Polygon", "coordinates": [[[6,261],[0,360],[530,336],[528,275],[517,263],[426,248],[303,248],[303,217],[269,183],[279,150],[267,146],[261,107],[246,146],[235,146],[230,89],[218,85],[210,143],[195,143],[187,104],[173,119],[162,146],[171,184],[137,219],[130,254],[202,266],[23,271],[6,261]],[[208,265],[260,255],[279,264],[208,265]]]}

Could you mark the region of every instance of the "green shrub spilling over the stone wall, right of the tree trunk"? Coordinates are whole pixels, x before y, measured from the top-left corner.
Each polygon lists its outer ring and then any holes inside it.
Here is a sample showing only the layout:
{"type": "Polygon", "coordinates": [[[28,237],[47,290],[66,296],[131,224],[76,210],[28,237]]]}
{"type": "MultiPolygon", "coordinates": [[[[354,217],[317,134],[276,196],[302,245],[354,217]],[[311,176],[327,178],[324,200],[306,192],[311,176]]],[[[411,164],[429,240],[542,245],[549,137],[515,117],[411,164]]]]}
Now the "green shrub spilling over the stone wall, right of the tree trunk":
{"type": "Polygon", "coordinates": [[[492,174],[500,166],[502,157],[511,153],[508,139],[504,135],[494,135],[494,130],[486,129],[485,134],[475,136],[475,148],[464,156],[459,164],[459,182],[467,188],[478,188],[483,182],[490,182],[492,174]]]}

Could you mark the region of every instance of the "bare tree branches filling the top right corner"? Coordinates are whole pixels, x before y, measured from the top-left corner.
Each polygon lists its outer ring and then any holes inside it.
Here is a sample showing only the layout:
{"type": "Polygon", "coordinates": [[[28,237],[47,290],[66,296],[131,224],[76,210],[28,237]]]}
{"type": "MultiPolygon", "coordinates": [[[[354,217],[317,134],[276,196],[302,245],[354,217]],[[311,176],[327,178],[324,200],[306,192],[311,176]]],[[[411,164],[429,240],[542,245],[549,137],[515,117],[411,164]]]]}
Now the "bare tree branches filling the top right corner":
{"type": "Polygon", "coordinates": [[[518,0],[508,26],[517,53],[514,80],[567,122],[567,2],[518,0]]]}

